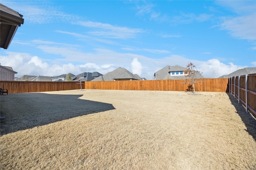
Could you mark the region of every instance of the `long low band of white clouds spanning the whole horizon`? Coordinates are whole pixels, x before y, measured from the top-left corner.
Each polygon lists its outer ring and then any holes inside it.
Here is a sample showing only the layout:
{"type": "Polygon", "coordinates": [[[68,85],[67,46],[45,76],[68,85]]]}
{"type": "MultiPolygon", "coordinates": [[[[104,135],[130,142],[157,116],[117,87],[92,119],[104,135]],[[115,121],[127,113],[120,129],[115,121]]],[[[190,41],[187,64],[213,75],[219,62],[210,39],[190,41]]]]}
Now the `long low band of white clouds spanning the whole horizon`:
{"type": "MultiPolygon", "coordinates": [[[[6,52],[7,55],[1,55],[1,65],[11,66],[14,71],[18,72],[16,76],[22,75],[41,75],[56,76],[61,74],[80,74],[82,72],[100,72],[106,74],[118,67],[124,67],[134,74],[145,77],[148,80],[154,79],[154,72],[160,70],[166,65],[180,65],[186,67],[188,62],[196,65],[198,71],[203,72],[206,78],[218,78],[224,74],[230,74],[246,66],[238,66],[233,63],[224,64],[218,59],[208,61],[191,60],[179,55],[170,55],[162,59],[151,59],[142,55],[131,53],[116,53],[110,50],[97,49],[96,53],[91,53],[90,57],[97,57],[102,60],[95,63],[96,60],[84,60],[80,64],[62,63],[60,60],[45,61],[38,56],[32,56],[28,53],[6,52]],[[112,61],[112,63],[110,63],[112,61]],[[132,63],[130,63],[132,61],[132,63]],[[84,63],[84,64],[83,64],[84,63]]],[[[256,62],[252,62],[256,66],[256,62]]]]}

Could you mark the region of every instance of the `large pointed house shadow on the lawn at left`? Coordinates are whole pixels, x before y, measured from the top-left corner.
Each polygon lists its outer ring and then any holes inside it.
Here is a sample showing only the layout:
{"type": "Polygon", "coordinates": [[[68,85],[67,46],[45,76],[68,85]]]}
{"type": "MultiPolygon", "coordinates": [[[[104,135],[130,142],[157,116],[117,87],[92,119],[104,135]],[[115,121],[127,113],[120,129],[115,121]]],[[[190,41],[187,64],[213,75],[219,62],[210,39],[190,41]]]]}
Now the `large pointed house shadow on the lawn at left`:
{"type": "Polygon", "coordinates": [[[112,104],[79,99],[83,95],[20,93],[1,96],[0,134],[115,109],[112,104]]]}

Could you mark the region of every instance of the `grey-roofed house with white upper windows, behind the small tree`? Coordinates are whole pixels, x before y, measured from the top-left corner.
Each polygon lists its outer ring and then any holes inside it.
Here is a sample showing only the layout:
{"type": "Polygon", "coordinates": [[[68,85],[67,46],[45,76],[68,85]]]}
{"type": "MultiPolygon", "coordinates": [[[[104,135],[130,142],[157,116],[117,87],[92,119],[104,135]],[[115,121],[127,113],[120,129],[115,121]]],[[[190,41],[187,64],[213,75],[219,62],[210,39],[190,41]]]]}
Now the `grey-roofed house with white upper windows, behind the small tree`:
{"type": "MultiPolygon", "coordinates": [[[[184,70],[187,68],[182,66],[165,66],[154,73],[155,80],[166,80],[166,79],[185,79],[184,70]]],[[[196,73],[197,78],[204,78],[200,72],[196,73]]]]}

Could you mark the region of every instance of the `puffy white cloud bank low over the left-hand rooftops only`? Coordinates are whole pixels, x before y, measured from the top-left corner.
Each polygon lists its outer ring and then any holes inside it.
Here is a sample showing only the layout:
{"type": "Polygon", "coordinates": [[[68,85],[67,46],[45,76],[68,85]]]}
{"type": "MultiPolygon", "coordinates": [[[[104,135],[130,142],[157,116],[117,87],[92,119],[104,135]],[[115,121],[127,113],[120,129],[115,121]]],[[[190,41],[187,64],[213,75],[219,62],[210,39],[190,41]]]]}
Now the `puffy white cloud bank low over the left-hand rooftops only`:
{"type": "Polygon", "coordinates": [[[41,75],[41,76],[56,76],[61,74],[80,74],[82,72],[94,72],[98,71],[102,74],[106,74],[115,69],[111,64],[100,65],[100,64],[50,64],[45,62],[43,59],[37,56],[31,56],[27,53],[12,53],[6,52],[7,55],[1,56],[2,66],[11,66],[14,71],[18,72],[16,77],[23,75],[41,75]]]}

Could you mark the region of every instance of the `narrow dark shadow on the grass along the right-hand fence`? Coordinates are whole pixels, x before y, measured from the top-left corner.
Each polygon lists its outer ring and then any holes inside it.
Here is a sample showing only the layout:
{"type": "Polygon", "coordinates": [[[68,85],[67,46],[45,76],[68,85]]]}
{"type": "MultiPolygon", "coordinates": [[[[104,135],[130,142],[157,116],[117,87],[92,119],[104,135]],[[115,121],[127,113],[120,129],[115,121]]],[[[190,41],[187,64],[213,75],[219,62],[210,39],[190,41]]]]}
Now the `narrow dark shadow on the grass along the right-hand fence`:
{"type": "Polygon", "coordinates": [[[232,105],[236,108],[236,113],[241,117],[244,125],[246,126],[245,131],[247,131],[256,141],[256,119],[250,114],[246,113],[246,109],[242,104],[238,104],[238,100],[234,98],[233,95],[228,93],[232,105]]]}

